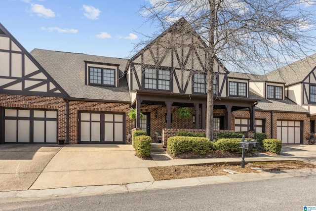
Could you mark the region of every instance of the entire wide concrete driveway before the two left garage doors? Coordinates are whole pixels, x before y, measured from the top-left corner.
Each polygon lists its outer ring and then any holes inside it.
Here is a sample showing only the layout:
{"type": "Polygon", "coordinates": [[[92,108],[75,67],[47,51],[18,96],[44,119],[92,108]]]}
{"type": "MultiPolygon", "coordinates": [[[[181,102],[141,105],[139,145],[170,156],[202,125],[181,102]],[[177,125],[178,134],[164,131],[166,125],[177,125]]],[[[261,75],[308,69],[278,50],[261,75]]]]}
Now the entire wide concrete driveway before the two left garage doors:
{"type": "Polygon", "coordinates": [[[0,145],[0,191],[154,181],[131,145],[0,145]]]}

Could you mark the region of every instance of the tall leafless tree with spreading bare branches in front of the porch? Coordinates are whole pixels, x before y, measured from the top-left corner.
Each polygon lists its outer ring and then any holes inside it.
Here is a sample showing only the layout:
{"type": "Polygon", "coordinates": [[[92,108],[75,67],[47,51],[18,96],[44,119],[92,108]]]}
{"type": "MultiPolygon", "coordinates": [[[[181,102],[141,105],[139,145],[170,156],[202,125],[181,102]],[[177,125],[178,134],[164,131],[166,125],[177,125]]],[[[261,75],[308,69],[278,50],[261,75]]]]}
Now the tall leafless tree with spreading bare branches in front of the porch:
{"type": "MultiPolygon", "coordinates": [[[[206,137],[210,140],[214,63],[237,72],[265,73],[306,56],[316,44],[312,34],[316,25],[314,0],[148,0],[140,13],[160,29],[159,33],[181,17],[188,21],[188,27],[182,24],[169,29],[172,36],[159,42],[163,53],[183,45],[206,52],[202,71],[207,73],[206,137]]],[[[153,36],[149,38],[155,42],[153,36]]],[[[188,66],[186,63],[183,68],[192,70],[188,66]]]]}

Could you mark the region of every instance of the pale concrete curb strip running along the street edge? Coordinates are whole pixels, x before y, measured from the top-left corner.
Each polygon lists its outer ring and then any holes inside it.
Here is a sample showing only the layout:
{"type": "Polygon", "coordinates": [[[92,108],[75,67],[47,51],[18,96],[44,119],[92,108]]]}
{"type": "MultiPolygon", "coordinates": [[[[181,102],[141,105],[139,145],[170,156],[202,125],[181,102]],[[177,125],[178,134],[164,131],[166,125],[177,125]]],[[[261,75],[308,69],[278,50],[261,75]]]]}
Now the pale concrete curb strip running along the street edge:
{"type": "Polygon", "coordinates": [[[0,192],[0,203],[12,201],[40,200],[58,197],[79,197],[112,193],[135,192],[165,188],[189,187],[218,183],[265,180],[286,177],[303,177],[316,174],[316,169],[293,169],[286,171],[228,174],[221,176],[194,177],[185,179],[160,180],[117,185],[81,186],[41,190],[0,192]]]}

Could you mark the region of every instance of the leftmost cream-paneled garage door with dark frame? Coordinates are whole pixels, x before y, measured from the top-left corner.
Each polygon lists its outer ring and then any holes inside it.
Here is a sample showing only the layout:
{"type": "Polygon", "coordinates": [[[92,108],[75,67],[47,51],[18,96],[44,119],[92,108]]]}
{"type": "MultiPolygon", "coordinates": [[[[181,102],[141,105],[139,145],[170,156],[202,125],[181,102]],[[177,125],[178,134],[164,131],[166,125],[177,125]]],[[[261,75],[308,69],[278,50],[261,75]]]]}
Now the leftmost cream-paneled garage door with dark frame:
{"type": "Polygon", "coordinates": [[[57,111],[5,109],[4,143],[56,143],[57,111]]]}

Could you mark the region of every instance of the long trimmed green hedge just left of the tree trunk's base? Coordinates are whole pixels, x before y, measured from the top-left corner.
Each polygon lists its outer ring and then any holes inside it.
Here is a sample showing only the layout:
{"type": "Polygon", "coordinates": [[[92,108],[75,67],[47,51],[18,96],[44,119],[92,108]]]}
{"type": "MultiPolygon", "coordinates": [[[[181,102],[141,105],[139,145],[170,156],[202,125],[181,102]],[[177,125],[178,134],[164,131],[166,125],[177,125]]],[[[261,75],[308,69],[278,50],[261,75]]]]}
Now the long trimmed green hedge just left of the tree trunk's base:
{"type": "Polygon", "coordinates": [[[212,145],[213,142],[204,137],[173,136],[168,138],[167,149],[174,156],[187,152],[204,155],[212,151],[212,145]]]}

